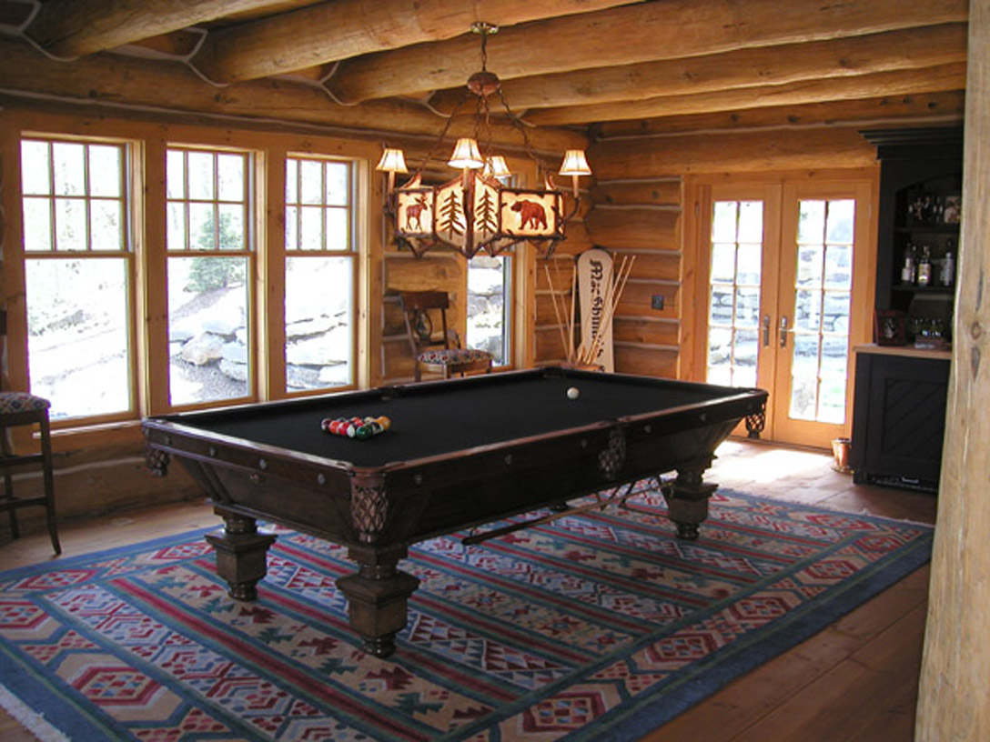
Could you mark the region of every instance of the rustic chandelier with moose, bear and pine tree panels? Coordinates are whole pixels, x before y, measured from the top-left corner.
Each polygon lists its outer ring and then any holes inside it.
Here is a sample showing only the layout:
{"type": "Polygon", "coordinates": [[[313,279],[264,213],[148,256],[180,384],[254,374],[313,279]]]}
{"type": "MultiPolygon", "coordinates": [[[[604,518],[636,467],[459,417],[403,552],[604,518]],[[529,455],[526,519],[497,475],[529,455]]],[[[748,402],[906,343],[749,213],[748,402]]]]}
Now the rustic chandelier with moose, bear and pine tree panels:
{"type": "Polygon", "coordinates": [[[433,150],[404,185],[395,187],[396,173],[408,173],[402,149],[386,148],[375,169],[388,174],[385,209],[392,222],[395,241],[420,257],[434,247],[451,247],[467,258],[481,250],[492,255],[528,241],[550,255],[564,238],[568,221],[577,213],[577,179],[590,175],[582,149],[568,149],[558,173],[571,176],[573,207],[564,214],[566,193],[558,190],[530,144],[524,125],[509,107],[498,76],[486,68],[488,37],[497,26],[474,23],[471,31],[481,36],[481,71],[467,80],[466,90],[446,121],[433,150]],[[492,153],[489,97],[497,94],[512,124],[521,132],[526,151],[544,175],[543,189],[515,188],[505,181],[512,174],[505,157],[492,153]],[[457,139],[447,160],[461,174],[441,185],[424,185],[423,168],[444,145],[450,124],[464,103],[475,100],[474,136],[457,139]],[[479,140],[481,144],[479,146],[479,140]]]}

